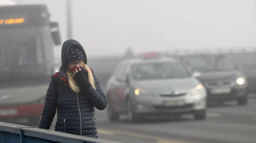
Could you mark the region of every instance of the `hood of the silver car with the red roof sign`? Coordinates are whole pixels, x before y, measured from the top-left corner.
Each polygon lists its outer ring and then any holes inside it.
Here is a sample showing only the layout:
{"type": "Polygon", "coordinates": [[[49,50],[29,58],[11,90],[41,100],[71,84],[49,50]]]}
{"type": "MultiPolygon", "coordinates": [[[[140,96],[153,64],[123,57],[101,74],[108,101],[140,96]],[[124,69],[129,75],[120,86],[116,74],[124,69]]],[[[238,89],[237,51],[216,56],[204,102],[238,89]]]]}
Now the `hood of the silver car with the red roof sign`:
{"type": "Polygon", "coordinates": [[[176,91],[192,89],[201,84],[197,79],[177,78],[177,79],[161,79],[161,80],[136,80],[131,83],[134,88],[145,89],[151,92],[176,91]]]}

